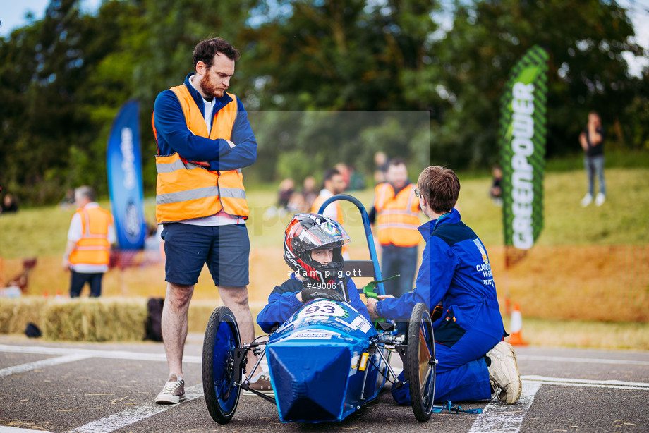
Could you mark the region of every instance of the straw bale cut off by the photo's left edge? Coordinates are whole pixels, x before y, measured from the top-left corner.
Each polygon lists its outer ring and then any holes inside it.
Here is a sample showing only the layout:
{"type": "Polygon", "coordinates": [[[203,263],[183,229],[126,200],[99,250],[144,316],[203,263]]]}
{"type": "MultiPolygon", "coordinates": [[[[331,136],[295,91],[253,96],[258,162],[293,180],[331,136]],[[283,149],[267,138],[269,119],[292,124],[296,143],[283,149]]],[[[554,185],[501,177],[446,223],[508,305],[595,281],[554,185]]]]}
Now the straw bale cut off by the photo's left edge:
{"type": "Polygon", "coordinates": [[[47,298],[0,298],[0,334],[23,334],[29,322],[44,325],[47,298]]]}

